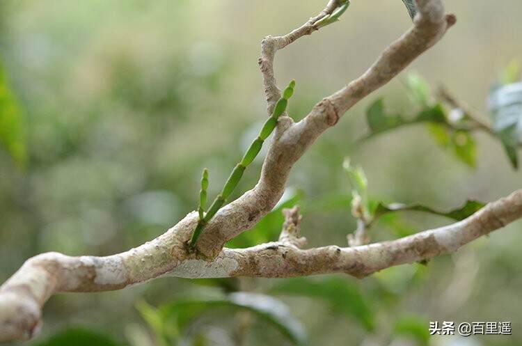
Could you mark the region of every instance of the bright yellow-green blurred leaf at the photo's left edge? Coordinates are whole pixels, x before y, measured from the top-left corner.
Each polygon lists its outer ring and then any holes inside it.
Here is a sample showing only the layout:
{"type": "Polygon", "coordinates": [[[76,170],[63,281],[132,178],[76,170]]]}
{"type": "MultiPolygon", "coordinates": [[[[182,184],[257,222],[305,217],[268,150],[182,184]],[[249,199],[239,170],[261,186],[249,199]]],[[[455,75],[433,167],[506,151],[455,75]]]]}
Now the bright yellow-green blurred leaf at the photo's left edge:
{"type": "Polygon", "coordinates": [[[15,95],[10,91],[6,72],[0,63],[0,143],[6,147],[18,166],[27,161],[26,123],[15,95]]]}

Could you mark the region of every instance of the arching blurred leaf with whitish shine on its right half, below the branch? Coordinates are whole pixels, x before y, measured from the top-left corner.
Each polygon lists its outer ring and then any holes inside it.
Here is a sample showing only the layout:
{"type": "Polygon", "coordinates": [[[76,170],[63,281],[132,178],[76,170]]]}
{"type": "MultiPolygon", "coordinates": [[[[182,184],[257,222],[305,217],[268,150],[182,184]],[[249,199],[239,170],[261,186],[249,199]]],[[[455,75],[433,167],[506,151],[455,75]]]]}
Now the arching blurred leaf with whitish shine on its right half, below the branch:
{"type": "Polygon", "coordinates": [[[180,299],[160,308],[164,320],[176,317],[180,328],[186,327],[201,313],[214,308],[251,311],[269,322],[295,345],[306,345],[306,331],[282,301],[265,294],[236,292],[222,298],[180,299]]]}

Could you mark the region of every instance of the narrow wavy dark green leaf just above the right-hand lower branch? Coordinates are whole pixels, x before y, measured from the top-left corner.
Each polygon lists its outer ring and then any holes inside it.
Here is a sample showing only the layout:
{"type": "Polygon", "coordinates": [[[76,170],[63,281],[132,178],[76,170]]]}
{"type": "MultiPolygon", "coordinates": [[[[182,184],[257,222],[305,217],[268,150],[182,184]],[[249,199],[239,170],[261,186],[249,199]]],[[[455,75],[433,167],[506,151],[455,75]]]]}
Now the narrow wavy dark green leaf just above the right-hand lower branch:
{"type": "Polygon", "coordinates": [[[479,202],[477,200],[468,200],[461,207],[450,210],[448,212],[441,212],[438,210],[434,210],[431,207],[427,207],[421,204],[413,204],[413,205],[404,205],[402,203],[393,203],[393,204],[383,204],[378,203],[377,207],[374,210],[374,217],[378,218],[384,214],[389,212],[403,212],[403,211],[413,211],[413,212],[429,212],[430,214],[440,215],[441,217],[448,217],[450,219],[454,219],[457,221],[461,221],[475,214],[478,210],[482,209],[486,205],[485,203],[479,202]]]}

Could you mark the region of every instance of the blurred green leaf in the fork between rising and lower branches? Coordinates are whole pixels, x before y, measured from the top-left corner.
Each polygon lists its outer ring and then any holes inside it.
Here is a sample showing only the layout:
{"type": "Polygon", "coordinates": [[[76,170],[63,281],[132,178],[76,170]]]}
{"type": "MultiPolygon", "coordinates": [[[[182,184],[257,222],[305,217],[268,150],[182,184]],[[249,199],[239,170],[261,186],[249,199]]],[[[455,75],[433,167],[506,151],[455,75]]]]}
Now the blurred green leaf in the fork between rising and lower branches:
{"type": "Polygon", "coordinates": [[[281,203],[265,215],[251,230],[243,232],[241,235],[230,240],[227,246],[230,248],[245,248],[278,239],[281,227],[283,227],[283,222],[285,221],[282,210],[284,208],[293,207],[303,199],[303,196],[303,192],[298,191],[290,199],[281,203]]]}

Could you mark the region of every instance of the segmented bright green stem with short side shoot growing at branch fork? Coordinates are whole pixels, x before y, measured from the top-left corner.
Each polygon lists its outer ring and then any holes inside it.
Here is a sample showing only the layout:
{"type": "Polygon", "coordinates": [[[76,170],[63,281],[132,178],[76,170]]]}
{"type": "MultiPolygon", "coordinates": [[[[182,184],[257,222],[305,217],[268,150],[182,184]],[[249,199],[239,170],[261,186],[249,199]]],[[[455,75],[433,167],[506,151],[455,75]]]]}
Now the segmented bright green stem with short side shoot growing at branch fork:
{"type": "Polygon", "coordinates": [[[203,210],[205,209],[205,202],[207,200],[208,171],[206,169],[203,171],[203,178],[201,178],[200,205],[198,207],[199,221],[196,230],[194,230],[194,233],[192,234],[192,239],[190,241],[191,249],[196,249],[196,242],[198,242],[198,238],[203,232],[203,229],[223,204],[225,204],[227,198],[230,197],[234,189],[237,187],[237,184],[239,184],[239,180],[241,180],[246,167],[248,167],[254,161],[255,157],[258,156],[264,140],[267,139],[276,128],[278,118],[285,112],[288,99],[290,99],[294,93],[294,87],[295,81],[292,80],[287,88],[285,88],[285,91],[283,91],[283,97],[276,102],[274,113],[272,113],[270,118],[268,118],[264,123],[258,138],[254,139],[248,150],[246,150],[241,162],[234,167],[221,190],[221,194],[214,199],[214,202],[212,202],[212,205],[210,205],[206,213],[203,210]]]}

